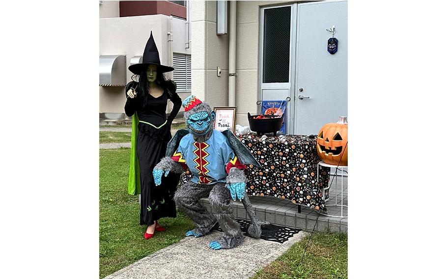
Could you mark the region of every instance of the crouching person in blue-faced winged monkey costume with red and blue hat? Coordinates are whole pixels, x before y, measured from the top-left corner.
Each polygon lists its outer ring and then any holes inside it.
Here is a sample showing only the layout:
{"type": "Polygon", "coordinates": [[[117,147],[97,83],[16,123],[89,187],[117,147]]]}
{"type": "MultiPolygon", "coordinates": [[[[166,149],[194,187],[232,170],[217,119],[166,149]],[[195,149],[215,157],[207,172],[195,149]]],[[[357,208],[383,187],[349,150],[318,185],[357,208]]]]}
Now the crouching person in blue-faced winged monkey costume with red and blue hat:
{"type": "MultiPolygon", "coordinates": [[[[214,250],[231,249],[242,243],[245,236],[233,218],[231,199],[242,200],[251,219],[249,234],[261,236],[261,223],[256,218],[250,200],[245,195],[246,176],[244,164],[260,167],[250,151],[231,133],[213,129],[216,113],[196,96],[189,96],[183,103],[188,130],[179,130],[168,143],[167,157],[154,167],[156,185],[170,171],[182,173],[188,169],[193,178],[177,190],[174,196],[178,208],[196,223],[196,228],[186,236],[201,237],[219,224],[223,236],[208,247],[214,250]],[[212,214],[199,200],[209,197],[212,214]]],[[[264,222],[262,223],[264,224],[264,222]]]]}

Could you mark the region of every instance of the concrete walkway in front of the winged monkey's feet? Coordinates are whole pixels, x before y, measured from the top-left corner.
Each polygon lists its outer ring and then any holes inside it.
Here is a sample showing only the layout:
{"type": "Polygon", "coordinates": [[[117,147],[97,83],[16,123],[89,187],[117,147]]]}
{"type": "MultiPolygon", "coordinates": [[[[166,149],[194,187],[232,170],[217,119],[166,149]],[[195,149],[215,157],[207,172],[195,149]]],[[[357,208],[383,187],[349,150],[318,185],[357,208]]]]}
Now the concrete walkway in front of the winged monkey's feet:
{"type": "Polygon", "coordinates": [[[282,244],[246,237],[233,249],[209,249],[208,243],[221,234],[214,231],[200,238],[186,237],[105,279],[247,279],[301,240],[305,232],[282,244]]]}

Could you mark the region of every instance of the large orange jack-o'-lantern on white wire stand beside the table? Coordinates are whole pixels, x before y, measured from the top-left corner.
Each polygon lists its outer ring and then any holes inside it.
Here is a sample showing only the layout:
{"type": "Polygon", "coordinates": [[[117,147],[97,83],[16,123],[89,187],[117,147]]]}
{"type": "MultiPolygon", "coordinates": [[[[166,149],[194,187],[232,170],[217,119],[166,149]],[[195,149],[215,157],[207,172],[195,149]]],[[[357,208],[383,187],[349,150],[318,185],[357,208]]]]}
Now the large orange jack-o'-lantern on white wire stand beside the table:
{"type": "Polygon", "coordinates": [[[337,123],[328,123],[317,137],[318,156],[330,165],[348,166],[348,122],[340,116],[337,123]]]}

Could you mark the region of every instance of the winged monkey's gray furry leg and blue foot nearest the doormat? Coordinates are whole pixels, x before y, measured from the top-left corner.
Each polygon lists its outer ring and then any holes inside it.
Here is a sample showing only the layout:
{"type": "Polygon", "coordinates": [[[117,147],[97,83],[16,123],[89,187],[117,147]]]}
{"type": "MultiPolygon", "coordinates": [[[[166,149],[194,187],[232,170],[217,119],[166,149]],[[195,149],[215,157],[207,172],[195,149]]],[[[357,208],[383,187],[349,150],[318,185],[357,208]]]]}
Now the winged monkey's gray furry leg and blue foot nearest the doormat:
{"type": "Polygon", "coordinates": [[[245,236],[242,234],[239,223],[234,220],[230,191],[225,184],[217,183],[211,190],[209,199],[211,208],[216,211],[217,220],[223,230],[223,236],[213,241],[219,243],[220,247],[217,249],[230,249],[238,246],[244,241],[245,236]]]}

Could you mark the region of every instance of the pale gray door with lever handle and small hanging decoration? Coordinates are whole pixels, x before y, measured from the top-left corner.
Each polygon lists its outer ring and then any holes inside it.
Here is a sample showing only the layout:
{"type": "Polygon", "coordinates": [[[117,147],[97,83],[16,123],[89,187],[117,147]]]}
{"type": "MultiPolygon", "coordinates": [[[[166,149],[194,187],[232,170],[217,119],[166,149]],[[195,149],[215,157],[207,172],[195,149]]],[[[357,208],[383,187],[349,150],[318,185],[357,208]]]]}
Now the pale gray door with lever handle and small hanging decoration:
{"type": "Polygon", "coordinates": [[[347,11],[347,1],[298,4],[294,134],[317,134],[324,124],[348,116],[347,11]],[[331,55],[327,44],[332,33],[326,29],[333,26],[338,50],[331,55]]]}

